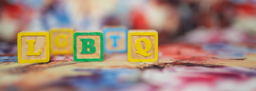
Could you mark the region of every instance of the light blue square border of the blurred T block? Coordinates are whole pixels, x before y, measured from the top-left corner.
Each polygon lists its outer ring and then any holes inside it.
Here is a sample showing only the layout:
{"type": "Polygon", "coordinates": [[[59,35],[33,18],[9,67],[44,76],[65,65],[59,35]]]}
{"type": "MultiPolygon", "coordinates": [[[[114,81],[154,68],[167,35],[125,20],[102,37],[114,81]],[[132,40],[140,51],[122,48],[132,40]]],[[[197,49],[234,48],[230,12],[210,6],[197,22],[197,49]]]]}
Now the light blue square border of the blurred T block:
{"type": "Polygon", "coordinates": [[[107,43],[107,38],[104,38],[104,53],[126,53],[127,52],[127,36],[128,36],[128,30],[127,28],[104,28],[103,29],[103,34],[104,34],[104,37],[106,37],[107,35],[107,32],[124,32],[124,44],[125,47],[123,50],[108,50],[106,47],[106,43],[107,43]]]}

